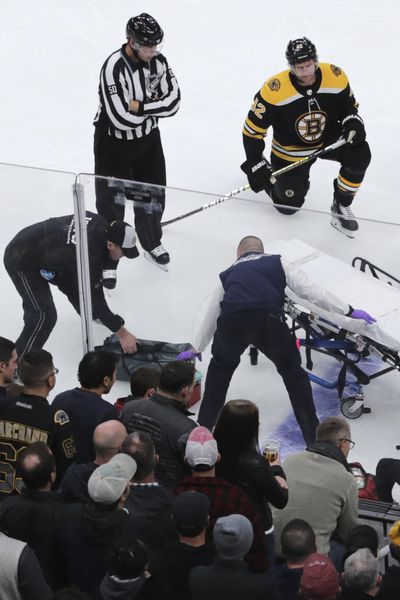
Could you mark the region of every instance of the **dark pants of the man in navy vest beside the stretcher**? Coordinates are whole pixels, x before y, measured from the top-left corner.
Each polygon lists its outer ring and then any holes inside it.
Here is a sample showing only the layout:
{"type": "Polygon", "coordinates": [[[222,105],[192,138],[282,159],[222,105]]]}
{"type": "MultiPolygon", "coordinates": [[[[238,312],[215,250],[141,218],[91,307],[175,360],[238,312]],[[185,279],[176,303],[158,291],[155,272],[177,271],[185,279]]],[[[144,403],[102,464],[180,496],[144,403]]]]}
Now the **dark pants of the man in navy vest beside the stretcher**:
{"type": "MultiPolygon", "coordinates": [[[[275,365],[289,394],[293,411],[307,445],[315,441],[318,418],[311,385],[288,326],[280,316],[265,311],[241,311],[218,319],[212,344],[203,401],[198,421],[212,429],[225,403],[229,383],[240,357],[249,345],[258,348],[275,365]]],[[[270,400],[268,392],[266,400],[270,400]]],[[[271,410],[272,398],[271,398],[271,410]]]]}

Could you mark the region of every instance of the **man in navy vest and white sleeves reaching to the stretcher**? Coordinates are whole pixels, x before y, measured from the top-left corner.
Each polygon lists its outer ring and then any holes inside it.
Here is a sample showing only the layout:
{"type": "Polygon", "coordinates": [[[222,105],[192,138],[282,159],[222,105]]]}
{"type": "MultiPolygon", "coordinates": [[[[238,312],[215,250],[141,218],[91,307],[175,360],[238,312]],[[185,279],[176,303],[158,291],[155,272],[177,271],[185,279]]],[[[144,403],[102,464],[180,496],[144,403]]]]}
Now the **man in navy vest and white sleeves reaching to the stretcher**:
{"type": "Polygon", "coordinates": [[[241,240],[237,257],[220,274],[221,285],[212,296],[194,341],[195,347],[203,351],[215,331],[198,422],[209,429],[215,425],[240,357],[253,345],[274,363],[304,440],[311,444],[315,442],[318,419],[310,381],[284,320],[285,287],[331,312],[367,322],[372,322],[372,317],[314,285],[305,273],[280,256],[264,254],[263,243],[255,236],[241,240]]]}

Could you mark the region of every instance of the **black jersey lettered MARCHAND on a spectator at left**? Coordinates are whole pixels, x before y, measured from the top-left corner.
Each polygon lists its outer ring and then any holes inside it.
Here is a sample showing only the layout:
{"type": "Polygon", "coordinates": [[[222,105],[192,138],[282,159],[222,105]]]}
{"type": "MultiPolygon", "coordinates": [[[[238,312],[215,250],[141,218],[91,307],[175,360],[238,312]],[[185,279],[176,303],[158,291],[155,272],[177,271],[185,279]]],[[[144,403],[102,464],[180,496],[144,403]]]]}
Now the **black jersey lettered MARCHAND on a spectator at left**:
{"type": "Polygon", "coordinates": [[[21,491],[18,456],[33,442],[44,442],[51,448],[60,481],[76,452],[67,413],[53,408],[42,396],[3,397],[0,401],[0,500],[21,491]]]}

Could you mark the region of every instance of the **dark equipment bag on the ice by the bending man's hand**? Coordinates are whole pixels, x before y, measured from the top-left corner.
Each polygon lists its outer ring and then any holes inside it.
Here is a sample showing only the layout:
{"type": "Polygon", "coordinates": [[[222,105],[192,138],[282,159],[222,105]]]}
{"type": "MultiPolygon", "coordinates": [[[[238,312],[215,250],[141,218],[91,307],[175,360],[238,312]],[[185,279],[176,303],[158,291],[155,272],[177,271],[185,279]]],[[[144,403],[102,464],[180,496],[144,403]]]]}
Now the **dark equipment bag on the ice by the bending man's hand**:
{"type": "Polygon", "coordinates": [[[130,381],[131,374],[138,367],[150,367],[160,371],[161,367],[176,360],[181,352],[193,350],[193,346],[189,343],[172,344],[138,339],[137,352],[127,354],[122,351],[118,337],[113,334],[104,340],[102,346],[96,346],[95,350],[106,350],[118,354],[120,360],[117,364],[117,379],[130,381]]]}

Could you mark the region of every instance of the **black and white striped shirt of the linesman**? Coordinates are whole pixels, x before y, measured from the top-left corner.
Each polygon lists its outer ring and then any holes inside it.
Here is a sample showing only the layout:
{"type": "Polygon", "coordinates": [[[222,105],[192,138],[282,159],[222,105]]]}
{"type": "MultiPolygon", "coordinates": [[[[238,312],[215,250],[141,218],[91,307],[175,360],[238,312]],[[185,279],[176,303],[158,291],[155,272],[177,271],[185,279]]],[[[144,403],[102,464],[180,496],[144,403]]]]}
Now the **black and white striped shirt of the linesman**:
{"type": "Polygon", "coordinates": [[[161,117],[171,117],[180,105],[178,82],[162,54],[150,62],[134,63],[125,45],[113,52],[100,72],[100,105],[94,125],[105,124],[108,135],[134,140],[148,135],[161,117]],[[137,113],[129,112],[130,100],[139,102],[137,113]]]}

